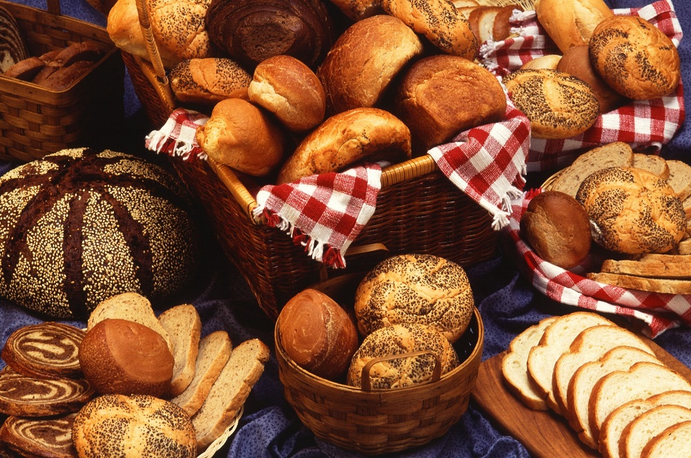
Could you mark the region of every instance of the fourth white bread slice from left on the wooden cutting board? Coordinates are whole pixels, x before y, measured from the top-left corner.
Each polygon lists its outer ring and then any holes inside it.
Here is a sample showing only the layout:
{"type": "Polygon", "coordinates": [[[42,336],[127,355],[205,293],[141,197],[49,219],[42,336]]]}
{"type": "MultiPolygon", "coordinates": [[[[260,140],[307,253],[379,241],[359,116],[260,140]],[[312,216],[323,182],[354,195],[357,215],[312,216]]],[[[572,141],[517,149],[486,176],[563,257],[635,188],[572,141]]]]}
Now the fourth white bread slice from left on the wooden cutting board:
{"type": "Polygon", "coordinates": [[[596,450],[598,448],[588,423],[588,403],[595,384],[603,376],[611,374],[615,370],[629,370],[632,365],[641,361],[662,364],[662,361],[646,350],[620,346],[606,352],[598,361],[580,366],[574,376],[571,377],[567,392],[567,404],[569,405],[567,418],[569,425],[576,431],[580,441],[590,448],[596,450]]]}

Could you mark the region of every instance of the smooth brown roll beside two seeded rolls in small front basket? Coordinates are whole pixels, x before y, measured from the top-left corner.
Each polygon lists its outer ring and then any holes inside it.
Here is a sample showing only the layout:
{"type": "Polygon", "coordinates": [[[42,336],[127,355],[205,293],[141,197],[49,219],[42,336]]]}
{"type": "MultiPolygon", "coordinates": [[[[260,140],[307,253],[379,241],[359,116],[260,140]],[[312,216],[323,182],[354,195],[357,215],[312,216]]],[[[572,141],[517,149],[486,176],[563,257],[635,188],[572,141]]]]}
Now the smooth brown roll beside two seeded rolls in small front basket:
{"type": "Polygon", "coordinates": [[[336,381],[359,346],[352,319],[332,298],[305,289],[283,306],[276,321],[281,345],[301,368],[336,381]]]}

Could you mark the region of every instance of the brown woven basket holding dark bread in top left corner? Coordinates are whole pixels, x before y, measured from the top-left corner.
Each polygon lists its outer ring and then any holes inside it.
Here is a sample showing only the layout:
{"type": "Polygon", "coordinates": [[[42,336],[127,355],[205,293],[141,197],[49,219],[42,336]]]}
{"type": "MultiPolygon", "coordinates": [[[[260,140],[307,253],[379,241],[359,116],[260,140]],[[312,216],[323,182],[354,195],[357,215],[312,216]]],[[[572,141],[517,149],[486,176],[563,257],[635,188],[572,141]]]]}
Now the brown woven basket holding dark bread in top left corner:
{"type": "Polygon", "coordinates": [[[59,0],[48,10],[0,0],[17,19],[31,55],[64,49],[78,41],[102,45],[104,57],[66,90],[0,75],[0,160],[29,162],[48,153],[86,146],[124,119],[124,67],[102,27],[66,17],[59,0]]]}

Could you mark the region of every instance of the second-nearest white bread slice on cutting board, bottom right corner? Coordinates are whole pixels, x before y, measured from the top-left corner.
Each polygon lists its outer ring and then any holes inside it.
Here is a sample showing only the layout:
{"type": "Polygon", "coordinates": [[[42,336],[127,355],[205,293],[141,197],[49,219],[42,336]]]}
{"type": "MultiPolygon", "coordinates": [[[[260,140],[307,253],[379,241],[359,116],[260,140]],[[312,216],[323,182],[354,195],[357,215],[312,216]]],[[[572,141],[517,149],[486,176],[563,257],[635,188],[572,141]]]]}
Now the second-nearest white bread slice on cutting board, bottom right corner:
{"type": "Polygon", "coordinates": [[[643,447],[651,439],[683,421],[691,421],[691,409],[681,405],[659,405],[648,410],[624,428],[619,439],[619,455],[641,458],[643,447]]]}

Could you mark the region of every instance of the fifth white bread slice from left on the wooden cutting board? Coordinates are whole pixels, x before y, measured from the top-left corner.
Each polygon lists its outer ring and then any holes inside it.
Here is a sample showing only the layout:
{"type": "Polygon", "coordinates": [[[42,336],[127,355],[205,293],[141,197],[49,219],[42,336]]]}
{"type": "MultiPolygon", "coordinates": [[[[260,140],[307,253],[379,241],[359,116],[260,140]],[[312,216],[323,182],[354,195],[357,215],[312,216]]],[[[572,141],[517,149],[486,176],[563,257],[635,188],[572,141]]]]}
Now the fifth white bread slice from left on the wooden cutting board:
{"type": "Polygon", "coordinates": [[[674,370],[656,363],[641,362],[630,370],[618,370],[596,383],[590,396],[588,422],[598,440],[600,426],[620,405],[670,390],[691,390],[691,383],[674,370]]]}

